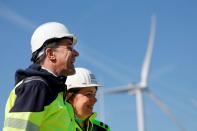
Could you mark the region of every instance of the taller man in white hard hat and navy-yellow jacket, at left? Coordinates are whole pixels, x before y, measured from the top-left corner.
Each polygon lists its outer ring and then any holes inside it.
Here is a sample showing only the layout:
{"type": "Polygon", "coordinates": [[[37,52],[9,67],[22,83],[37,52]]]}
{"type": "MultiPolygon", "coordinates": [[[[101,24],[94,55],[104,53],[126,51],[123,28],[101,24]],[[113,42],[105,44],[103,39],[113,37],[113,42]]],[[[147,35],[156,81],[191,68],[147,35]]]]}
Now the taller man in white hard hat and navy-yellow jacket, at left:
{"type": "Polygon", "coordinates": [[[32,61],[16,72],[6,104],[3,131],[73,131],[72,107],[65,101],[66,76],[75,73],[76,38],[61,23],[39,26],[32,35],[32,61]]]}

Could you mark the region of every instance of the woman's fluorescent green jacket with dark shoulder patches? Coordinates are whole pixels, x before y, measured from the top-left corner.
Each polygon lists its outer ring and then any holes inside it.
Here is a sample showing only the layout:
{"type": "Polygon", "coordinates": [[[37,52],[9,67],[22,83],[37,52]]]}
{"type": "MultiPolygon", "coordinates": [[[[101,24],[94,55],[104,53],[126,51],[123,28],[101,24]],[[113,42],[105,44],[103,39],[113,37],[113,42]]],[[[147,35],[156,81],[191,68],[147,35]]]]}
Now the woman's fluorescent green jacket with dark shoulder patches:
{"type": "Polygon", "coordinates": [[[77,121],[75,121],[76,131],[110,131],[110,128],[108,125],[96,120],[96,115],[97,115],[96,113],[93,113],[88,118],[86,130],[82,129],[77,123],[77,121]]]}

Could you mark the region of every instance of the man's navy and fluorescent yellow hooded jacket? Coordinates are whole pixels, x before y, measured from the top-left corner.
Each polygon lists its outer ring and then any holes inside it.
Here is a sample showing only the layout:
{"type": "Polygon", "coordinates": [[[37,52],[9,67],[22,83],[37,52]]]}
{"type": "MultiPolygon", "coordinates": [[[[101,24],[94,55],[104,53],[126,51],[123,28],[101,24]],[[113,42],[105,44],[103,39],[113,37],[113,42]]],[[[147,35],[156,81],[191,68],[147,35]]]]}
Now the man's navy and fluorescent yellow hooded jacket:
{"type": "Polygon", "coordinates": [[[3,131],[74,131],[72,106],[64,98],[65,80],[36,64],[18,70],[6,104],[3,131]]]}

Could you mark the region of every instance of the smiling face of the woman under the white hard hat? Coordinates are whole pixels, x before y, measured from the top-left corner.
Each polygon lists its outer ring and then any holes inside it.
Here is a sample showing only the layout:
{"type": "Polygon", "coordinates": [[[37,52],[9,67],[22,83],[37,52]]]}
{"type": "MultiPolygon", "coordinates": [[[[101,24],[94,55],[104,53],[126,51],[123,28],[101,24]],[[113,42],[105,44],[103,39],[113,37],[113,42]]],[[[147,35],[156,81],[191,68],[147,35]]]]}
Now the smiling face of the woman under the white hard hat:
{"type": "Polygon", "coordinates": [[[93,113],[93,107],[96,103],[96,87],[81,88],[71,98],[75,115],[80,119],[86,119],[93,113]]]}

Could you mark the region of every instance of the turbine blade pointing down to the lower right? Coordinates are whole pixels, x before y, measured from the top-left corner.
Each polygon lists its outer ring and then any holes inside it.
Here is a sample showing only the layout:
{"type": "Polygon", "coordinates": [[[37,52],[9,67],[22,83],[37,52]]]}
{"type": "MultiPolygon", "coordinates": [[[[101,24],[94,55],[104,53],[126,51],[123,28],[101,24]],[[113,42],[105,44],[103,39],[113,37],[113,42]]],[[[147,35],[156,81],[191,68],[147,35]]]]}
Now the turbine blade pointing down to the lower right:
{"type": "Polygon", "coordinates": [[[171,109],[163,103],[153,92],[150,90],[145,91],[148,97],[158,105],[158,107],[172,120],[172,122],[180,129],[180,131],[186,131],[186,129],[180,124],[171,109]]]}

